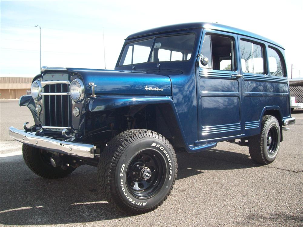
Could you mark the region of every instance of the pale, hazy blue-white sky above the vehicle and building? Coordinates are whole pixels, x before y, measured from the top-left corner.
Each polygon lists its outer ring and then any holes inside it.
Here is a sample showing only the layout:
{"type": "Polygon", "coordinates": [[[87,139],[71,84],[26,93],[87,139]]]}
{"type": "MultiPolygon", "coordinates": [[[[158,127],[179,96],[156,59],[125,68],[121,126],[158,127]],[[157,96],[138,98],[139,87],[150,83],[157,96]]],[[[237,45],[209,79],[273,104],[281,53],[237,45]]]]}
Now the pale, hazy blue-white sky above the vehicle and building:
{"type": "Polygon", "coordinates": [[[113,69],[124,39],[186,22],[218,22],[285,48],[288,78],[303,78],[302,0],[2,1],[0,76],[33,77],[42,66],[113,69]],[[103,48],[103,29],[104,44],[103,48]],[[105,53],[105,61],[104,61],[105,53]]]}

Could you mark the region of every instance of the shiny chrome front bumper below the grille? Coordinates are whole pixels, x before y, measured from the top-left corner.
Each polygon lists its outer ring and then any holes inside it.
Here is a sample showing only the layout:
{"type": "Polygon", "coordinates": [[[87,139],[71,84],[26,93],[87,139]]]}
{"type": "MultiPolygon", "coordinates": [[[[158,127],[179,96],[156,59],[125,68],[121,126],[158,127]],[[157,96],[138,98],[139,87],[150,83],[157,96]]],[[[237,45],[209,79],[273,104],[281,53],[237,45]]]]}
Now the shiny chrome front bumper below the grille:
{"type": "Polygon", "coordinates": [[[14,127],[9,127],[8,134],[13,139],[41,148],[66,155],[77,157],[94,158],[94,145],[84,143],[73,143],[68,141],[55,140],[48,137],[37,136],[35,133],[28,133],[25,130],[19,130],[14,127]]]}

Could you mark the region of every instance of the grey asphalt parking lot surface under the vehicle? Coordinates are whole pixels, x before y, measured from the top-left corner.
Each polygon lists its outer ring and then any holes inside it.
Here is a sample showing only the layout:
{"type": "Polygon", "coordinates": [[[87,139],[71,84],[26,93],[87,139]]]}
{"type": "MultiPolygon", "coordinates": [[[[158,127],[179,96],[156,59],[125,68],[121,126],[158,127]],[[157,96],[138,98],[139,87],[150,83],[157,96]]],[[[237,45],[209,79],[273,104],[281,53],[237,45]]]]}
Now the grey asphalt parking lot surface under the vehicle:
{"type": "Polygon", "coordinates": [[[1,226],[302,226],[303,111],[283,131],[276,160],[260,166],[247,146],[222,142],[201,153],[177,153],[178,177],[165,203],[129,216],[100,194],[97,168],[80,166],[49,180],[25,165],[8,127],[33,119],[18,100],[1,100],[1,226]]]}

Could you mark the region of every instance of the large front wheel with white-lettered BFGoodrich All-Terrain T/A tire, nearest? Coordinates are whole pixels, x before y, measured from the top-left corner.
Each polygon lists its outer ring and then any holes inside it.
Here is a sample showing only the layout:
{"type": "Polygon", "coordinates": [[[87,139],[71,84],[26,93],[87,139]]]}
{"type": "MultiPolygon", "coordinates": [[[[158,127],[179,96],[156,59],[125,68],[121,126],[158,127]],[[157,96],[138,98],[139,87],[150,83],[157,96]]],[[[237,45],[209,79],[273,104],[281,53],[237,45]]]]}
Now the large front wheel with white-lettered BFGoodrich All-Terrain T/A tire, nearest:
{"type": "Polygon", "coordinates": [[[167,199],[176,177],[173,147],[150,130],[120,133],[100,154],[100,189],[123,212],[137,215],[156,209],[167,199]]]}

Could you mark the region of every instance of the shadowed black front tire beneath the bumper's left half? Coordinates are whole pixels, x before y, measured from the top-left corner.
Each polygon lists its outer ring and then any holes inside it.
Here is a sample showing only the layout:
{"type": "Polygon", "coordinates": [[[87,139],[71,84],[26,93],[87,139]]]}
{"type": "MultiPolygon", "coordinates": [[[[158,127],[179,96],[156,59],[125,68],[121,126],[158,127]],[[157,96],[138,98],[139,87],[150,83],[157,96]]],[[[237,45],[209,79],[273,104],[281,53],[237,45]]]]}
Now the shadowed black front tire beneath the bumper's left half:
{"type": "Polygon", "coordinates": [[[52,166],[50,160],[52,154],[47,153],[45,150],[23,144],[22,153],[29,169],[43,178],[58,179],[67,176],[75,170],[72,166],[67,166],[66,169],[62,169],[61,166],[52,166]]]}

